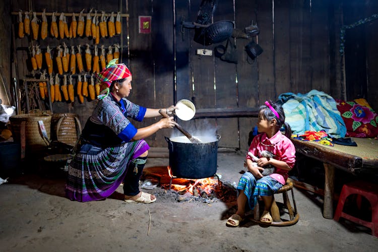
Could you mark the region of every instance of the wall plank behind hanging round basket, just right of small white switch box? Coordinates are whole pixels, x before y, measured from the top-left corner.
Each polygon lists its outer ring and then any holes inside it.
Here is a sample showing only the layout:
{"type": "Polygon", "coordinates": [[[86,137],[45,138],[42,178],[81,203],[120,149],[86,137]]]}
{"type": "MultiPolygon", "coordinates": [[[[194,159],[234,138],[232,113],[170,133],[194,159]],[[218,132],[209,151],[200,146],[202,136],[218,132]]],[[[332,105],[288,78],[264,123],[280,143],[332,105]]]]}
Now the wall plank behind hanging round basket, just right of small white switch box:
{"type": "MultiPolygon", "coordinates": [[[[219,1],[214,15],[214,22],[229,20],[234,22],[234,6],[232,0],[219,1]]],[[[230,38],[228,46],[232,48],[235,40],[230,38]]],[[[227,40],[214,44],[227,46],[227,40]]],[[[237,107],[237,86],[236,86],[236,66],[215,57],[215,95],[216,107],[237,107]]],[[[223,143],[227,143],[227,147],[239,148],[239,131],[237,118],[217,118],[218,134],[222,136],[223,143]]]]}

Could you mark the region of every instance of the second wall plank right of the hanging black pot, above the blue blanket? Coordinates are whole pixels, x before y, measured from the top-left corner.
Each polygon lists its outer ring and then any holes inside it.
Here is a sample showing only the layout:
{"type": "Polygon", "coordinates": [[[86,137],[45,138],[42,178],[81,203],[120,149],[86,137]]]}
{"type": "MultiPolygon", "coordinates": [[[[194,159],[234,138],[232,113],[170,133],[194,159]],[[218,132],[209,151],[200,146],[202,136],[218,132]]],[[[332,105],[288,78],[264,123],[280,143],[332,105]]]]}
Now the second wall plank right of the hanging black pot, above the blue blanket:
{"type": "Polygon", "coordinates": [[[274,2],[274,68],[277,98],[290,88],[290,5],[289,0],[274,2]]]}

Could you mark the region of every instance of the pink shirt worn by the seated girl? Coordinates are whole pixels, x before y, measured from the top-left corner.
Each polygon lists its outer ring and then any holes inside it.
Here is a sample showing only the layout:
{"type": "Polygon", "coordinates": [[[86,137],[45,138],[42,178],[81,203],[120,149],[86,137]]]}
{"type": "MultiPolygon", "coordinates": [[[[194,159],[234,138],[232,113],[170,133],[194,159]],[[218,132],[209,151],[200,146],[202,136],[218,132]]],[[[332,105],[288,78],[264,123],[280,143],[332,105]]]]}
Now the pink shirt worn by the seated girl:
{"type": "MultiPolygon", "coordinates": [[[[293,168],[295,164],[295,147],[290,139],[288,139],[285,135],[282,135],[280,131],[278,131],[272,138],[268,138],[266,133],[261,133],[257,135],[248,149],[249,152],[253,153],[257,157],[261,157],[260,153],[262,151],[269,151],[274,155],[274,159],[281,160],[287,163],[290,168],[293,168]],[[265,146],[268,145],[268,146],[265,146]],[[274,146],[270,146],[273,145],[274,146]]],[[[246,155],[247,159],[250,159],[254,162],[254,160],[246,155]]],[[[288,178],[289,171],[283,170],[276,167],[275,173],[271,174],[270,176],[276,179],[281,184],[286,183],[286,179],[288,178]]]]}

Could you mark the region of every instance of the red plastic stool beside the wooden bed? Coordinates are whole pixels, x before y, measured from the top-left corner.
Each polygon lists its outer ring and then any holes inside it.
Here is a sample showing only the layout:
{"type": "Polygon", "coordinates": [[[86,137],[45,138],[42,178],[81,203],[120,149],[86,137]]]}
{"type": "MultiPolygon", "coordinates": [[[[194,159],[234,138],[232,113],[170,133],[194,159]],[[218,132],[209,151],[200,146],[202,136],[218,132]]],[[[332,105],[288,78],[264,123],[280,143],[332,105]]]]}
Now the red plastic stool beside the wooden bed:
{"type": "Polygon", "coordinates": [[[344,184],[341,190],[339,203],[337,204],[334,220],[339,221],[340,217],[370,228],[372,235],[378,237],[378,185],[365,181],[355,181],[344,184]],[[371,222],[361,220],[343,212],[345,200],[352,194],[363,196],[370,202],[371,222]]]}

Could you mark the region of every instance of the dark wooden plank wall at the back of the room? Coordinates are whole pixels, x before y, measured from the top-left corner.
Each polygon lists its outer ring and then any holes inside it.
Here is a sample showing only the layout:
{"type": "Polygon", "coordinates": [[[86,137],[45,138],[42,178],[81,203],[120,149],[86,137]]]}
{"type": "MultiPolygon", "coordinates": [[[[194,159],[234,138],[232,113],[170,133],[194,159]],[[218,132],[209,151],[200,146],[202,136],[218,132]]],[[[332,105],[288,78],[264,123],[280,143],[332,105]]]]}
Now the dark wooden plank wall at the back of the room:
{"type": "MultiPolygon", "coordinates": [[[[12,1],[11,11],[26,10],[27,3],[26,0],[12,1]]],[[[378,109],[375,84],[378,72],[375,44],[378,36],[373,32],[378,21],[364,25],[363,30],[356,34],[348,34],[348,43],[358,38],[358,44],[355,45],[358,51],[346,44],[345,63],[339,54],[340,27],[360,17],[378,13],[374,1],[219,1],[213,22],[230,20],[234,22],[235,28],[243,29],[253,21],[261,30],[255,41],[264,52],[255,60],[248,59],[244,50],[250,40],[233,40],[238,64],[222,61],[215,56],[196,54],[197,49],[213,50],[219,44],[226,44],[225,41],[208,46],[201,45],[193,40],[194,29],[181,27],[182,20],[196,20],[201,0],[108,0],[106,5],[99,0],[83,0],[80,3],[73,0],[32,3],[32,8],[36,11],[46,8],[50,12],[78,13],[84,8],[86,13],[89,8],[94,8],[105,12],[121,10],[122,13],[128,13],[130,17],[122,19],[122,36],[114,39],[121,40],[121,61],[129,65],[133,73],[130,100],[147,107],[166,107],[180,99],[190,99],[195,102],[199,112],[206,109],[220,111],[217,117],[178,122],[190,132],[216,130],[221,135],[221,147],[246,149],[248,132],[256,124],[254,117],[225,118],[221,116],[223,112],[257,108],[265,100],[276,100],[285,92],[307,93],[317,89],[335,98],[365,97],[373,108],[378,109]],[[354,9],[356,5],[358,8],[354,9]],[[152,16],[150,34],[138,32],[138,16],[152,16]],[[362,44],[364,46],[361,48],[362,44]],[[351,51],[364,55],[364,58],[359,58],[358,63],[353,65],[353,57],[348,54],[351,51]],[[346,79],[344,66],[347,66],[346,79]],[[358,83],[356,80],[359,80],[358,83]]],[[[16,17],[11,18],[15,21],[16,17]]],[[[86,38],[80,40],[91,42],[86,41],[86,38]]],[[[25,47],[29,42],[27,38],[16,39],[19,47],[25,47]]],[[[102,43],[109,41],[103,39],[102,43]]],[[[19,62],[25,62],[27,51],[20,49],[17,56],[19,62]]],[[[29,69],[19,64],[19,79],[27,74],[30,74],[29,69]]],[[[74,103],[55,102],[53,111],[75,112],[84,123],[94,104],[95,101],[88,100],[83,104],[77,100],[74,103]]],[[[135,124],[143,127],[158,119],[148,119],[135,124]]],[[[147,141],[151,146],[165,147],[164,136],[170,134],[170,130],[163,130],[147,141]]]]}

